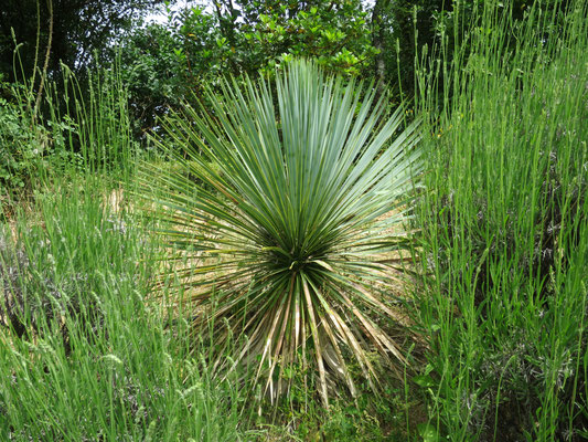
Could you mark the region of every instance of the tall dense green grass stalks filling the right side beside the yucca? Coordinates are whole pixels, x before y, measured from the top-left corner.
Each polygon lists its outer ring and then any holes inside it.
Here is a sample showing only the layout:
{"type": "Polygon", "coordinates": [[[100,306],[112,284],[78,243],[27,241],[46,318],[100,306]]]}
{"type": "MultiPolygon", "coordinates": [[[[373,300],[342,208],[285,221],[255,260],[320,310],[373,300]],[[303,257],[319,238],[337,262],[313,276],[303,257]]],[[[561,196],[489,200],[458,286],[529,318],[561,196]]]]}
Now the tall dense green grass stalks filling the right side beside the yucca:
{"type": "Polygon", "coordinates": [[[588,438],[588,21],[570,3],[515,23],[484,2],[450,62],[443,40],[420,65],[431,438],[588,438]]]}

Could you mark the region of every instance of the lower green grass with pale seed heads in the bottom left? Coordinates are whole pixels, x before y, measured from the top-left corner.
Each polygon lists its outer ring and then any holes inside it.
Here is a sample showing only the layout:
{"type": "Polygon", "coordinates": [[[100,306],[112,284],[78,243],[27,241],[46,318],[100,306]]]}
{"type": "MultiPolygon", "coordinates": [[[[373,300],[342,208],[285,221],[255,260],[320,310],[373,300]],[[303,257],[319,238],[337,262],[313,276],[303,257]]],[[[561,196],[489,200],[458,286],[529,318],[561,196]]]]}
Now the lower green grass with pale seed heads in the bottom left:
{"type": "Polygon", "coordinates": [[[0,328],[0,439],[237,440],[240,402],[229,380],[209,376],[186,345],[188,324],[164,329],[160,308],[145,301],[154,263],[138,219],[88,193],[38,198],[42,224],[17,221],[26,333],[0,328]],[[51,297],[30,276],[38,269],[61,294],[51,315],[29,302],[51,297]],[[81,299],[77,308],[65,298],[81,299]]]}

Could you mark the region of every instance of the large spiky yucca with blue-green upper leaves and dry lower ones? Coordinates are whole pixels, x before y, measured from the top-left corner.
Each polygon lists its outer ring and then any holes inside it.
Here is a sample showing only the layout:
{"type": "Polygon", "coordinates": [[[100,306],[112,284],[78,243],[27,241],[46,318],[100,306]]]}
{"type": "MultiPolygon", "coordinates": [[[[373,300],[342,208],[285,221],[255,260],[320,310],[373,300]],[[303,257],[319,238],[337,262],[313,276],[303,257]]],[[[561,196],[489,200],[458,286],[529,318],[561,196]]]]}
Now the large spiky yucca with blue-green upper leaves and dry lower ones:
{"type": "Polygon", "coordinates": [[[336,380],[355,391],[350,362],[374,389],[373,351],[405,362],[383,324],[395,318],[391,253],[408,240],[391,227],[406,217],[419,134],[400,130],[404,110],[386,114],[375,87],[312,62],[272,86],[227,80],[211,107],[170,115],[158,143],[175,165],[146,164],[140,194],[163,209],[159,233],[181,252],[170,272],[196,329],[214,324],[217,354],[246,337],[234,364],[254,362],[272,399],[292,366],[313,368],[328,404],[336,380]]]}

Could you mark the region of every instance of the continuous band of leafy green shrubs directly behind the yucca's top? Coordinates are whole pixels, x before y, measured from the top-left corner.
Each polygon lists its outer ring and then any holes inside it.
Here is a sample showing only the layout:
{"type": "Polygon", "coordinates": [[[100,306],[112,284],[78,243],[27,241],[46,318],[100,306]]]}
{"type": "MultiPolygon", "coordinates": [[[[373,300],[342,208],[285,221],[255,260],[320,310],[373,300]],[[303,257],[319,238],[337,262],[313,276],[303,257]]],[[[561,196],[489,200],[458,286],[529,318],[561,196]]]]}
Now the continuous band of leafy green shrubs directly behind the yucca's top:
{"type": "Polygon", "coordinates": [[[350,76],[370,71],[376,51],[360,1],[214,4],[213,13],[168,9],[167,23],[135,30],[120,48],[138,134],[181,99],[206,99],[205,86],[217,88],[227,74],[272,75],[295,56],[350,76]]]}

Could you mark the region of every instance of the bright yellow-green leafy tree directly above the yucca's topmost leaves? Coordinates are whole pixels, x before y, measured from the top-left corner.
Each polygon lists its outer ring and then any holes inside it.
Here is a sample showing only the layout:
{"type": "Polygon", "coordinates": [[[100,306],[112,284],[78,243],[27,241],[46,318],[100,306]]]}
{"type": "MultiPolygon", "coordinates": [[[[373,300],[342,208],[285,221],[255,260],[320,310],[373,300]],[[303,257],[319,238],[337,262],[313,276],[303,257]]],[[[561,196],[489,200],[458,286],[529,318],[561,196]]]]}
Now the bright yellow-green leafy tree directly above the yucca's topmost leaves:
{"type": "Polygon", "coordinates": [[[215,6],[234,73],[271,73],[276,64],[301,56],[363,75],[376,52],[360,0],[221,0],[215,6]]]}

